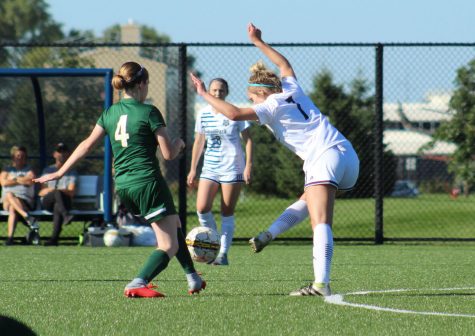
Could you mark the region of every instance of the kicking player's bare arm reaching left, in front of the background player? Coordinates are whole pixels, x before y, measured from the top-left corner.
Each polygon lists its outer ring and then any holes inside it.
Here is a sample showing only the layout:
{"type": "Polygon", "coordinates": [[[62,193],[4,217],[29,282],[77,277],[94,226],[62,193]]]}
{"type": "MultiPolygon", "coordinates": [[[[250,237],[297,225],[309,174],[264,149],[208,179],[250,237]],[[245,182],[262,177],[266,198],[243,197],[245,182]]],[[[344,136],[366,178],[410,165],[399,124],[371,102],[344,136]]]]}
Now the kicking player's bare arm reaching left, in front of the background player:
{"type": "Polygon", "coordinates": [[[196,92],[203,97],[204,100],[211,106],[215,108],[219,113],[224,114],[228,119],[231,120],[257,120],[257,114],[250,107],[237,107],[232,104],[229,104],[225,100],[221,100],[211,95],[206,91],[206,87],[203,81],[196,77],[193,73],[190,73],[191,81],[196,88],[196,92]]]}

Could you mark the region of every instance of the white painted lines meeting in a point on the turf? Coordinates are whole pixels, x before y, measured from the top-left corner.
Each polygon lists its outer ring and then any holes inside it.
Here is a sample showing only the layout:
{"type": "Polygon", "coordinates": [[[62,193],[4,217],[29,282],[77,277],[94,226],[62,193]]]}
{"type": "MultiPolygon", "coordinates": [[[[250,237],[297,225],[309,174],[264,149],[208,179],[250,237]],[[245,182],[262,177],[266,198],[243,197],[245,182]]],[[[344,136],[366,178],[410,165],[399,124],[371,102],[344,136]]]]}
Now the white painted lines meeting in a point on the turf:
{"type": "MultiPolygon", "coordinates": [[[[344,295],[367,295],[371,293],[397,293],[397,292],[411,292],[411,291],[421,291],[421,290],[432,290],[432,291],[455,291],[455,290],[467,290],[475,289],[475,287],[465,287],[465,288],[428,288],[428,289],[389,289],[389,290],[379,290],[379,291],[361,291],[361,292],[352,292],[346,293],[344,295]]],[[[435,315],[435,316],[455,316],[455,317],[475,317],[475,314],[457,314],[457,313],[444,313],[444,312],[425,312],[425,311],[416,311],[416,310],[407,310],[407,309],[396,309],[396,308],[387,308],[379,307],[361,303],[351,303],[347,302],[344,299],[342,294],[334,294],[325,297],[325,302],[330,304],[336,304],[340,306],[350,306],[357,308],[364,308],[370,310],[378,311],[387,311],[392,313],[401,313],[401,314],[416,314],[416,315],[435,315]]]]}

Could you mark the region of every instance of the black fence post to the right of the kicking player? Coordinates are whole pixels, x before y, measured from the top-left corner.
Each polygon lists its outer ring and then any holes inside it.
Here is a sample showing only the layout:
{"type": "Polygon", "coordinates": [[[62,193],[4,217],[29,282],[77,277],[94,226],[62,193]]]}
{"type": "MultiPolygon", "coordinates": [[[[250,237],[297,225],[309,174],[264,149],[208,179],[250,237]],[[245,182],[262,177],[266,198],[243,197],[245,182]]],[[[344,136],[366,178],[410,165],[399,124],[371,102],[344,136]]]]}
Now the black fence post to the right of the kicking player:
{"type": "Polygon", "coordinates": [[[375,123],[374,123],[374,197],[375,244],[382,244],[383,234],[383,45],[376,45],[375,123]]]}

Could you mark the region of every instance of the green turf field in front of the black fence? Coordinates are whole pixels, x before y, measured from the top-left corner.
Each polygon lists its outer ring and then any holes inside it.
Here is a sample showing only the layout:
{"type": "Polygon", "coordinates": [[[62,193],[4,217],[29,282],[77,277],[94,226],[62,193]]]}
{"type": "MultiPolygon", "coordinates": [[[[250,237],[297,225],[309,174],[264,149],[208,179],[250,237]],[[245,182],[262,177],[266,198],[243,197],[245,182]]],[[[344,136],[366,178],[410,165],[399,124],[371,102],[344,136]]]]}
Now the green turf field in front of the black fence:
{"type": "Polygon", "coordinates": [[[156,282],[166,298],[124,298],[124,285],[150,251],[2,246],[0,314],[39,335],[447,336],[475,330],[473,243],[337,243],[333,292],[362,307],[287,295],[313,278],[308,244],[275,243],[255,255],[235,244],[229,267],[197,265],[208,282],[197,296],[186,293],[172,261],[156,282]],[[394,289],[406,291],[348,294],[394,289]]]}

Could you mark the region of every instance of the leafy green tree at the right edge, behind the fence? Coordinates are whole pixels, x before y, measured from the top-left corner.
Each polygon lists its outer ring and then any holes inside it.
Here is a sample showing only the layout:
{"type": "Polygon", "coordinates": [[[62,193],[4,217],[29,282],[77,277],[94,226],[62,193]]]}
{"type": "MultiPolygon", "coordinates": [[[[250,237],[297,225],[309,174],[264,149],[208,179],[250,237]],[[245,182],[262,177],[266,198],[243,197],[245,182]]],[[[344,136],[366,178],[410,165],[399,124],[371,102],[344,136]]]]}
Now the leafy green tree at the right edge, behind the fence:
{"type": "Polygon", "coordinates": [[[468,194],[475,182],[475,59],[457,70],[449,107],[454,112],[453,117],[440,125],[431,144],[442,140],[457,145],[448,169],[463,181],[464,192],[468,194]]]}

